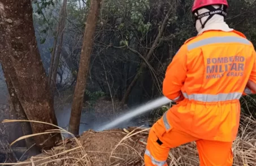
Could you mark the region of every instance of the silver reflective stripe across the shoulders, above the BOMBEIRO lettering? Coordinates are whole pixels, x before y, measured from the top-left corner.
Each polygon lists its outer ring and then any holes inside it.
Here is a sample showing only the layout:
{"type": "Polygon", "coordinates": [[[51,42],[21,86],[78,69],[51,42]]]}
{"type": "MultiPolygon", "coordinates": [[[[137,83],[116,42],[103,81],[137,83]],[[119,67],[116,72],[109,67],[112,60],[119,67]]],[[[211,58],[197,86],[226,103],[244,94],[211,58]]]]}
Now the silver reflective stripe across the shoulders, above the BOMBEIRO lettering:
{"type": "Polygon", "coordinates": [[[250,41],[242,37],[236,37],[236,36],[210,37],[210,38],[205,38],[203,40],[188,44],[188,50],[192,50],[197,47],[210,45],[214,43],[233,43],[233,42],[250,45],[250,41]]]}

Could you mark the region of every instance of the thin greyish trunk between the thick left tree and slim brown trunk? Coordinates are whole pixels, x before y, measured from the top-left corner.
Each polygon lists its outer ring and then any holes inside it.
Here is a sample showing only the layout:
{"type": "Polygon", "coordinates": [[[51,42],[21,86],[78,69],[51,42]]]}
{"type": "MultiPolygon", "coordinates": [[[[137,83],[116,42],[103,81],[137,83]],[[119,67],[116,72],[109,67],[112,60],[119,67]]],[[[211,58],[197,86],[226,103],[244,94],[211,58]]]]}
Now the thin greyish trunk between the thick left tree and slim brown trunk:
{"type": "MultiPolygon", "coordinates": [[[[67,16],[67,0],[63,1],[62,8],[59,12],[59,25],[58,25],[58,35],[59,37],[59,45],[57,48],[57,54],[54,60],[54,65],[53,65],[53,73],[51,76],[51,81],[50,81],[50,88],[51,88],[51,94],[54,96],[54,91],[56,87],[56,81],[57,81],[57,72],[58,72],[58,67],[59,67],[59,58],[60,58],[60,53],[62,52],[62,43],[63,43],[63,36],[64,36],[64,28],[65,28],[65,21],[66,21],[66,16],[67,16]]],[[[57,36],[58,38],[58,36],[57,36]]],[[[55,41],[57,41],[57,38],[55,41]]]]}

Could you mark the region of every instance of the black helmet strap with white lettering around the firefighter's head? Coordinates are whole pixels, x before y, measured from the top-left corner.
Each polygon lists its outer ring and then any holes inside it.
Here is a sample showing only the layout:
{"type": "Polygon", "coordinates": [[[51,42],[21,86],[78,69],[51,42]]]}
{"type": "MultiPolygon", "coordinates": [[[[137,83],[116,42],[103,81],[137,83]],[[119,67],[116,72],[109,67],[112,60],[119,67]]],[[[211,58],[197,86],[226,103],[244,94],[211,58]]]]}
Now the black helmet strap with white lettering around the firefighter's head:
{"type": "Polygon", "coordinates": [[[227,16],[227,12],[225,12],[227,7],[224,6],[224,5],[220,6],[219,8],[215,8],[215,7],[211,6],[211,5],[210,6],[205,6],[203,8],[206,8],[209,11],[207,11],[207,12],[201,14],[201,15],[198,15],[198,10],[197,10],[195,12],[197,14],[197,16],[194,15],[194,24],[196,25],[196,21],[199,20],[201,25],[202,25],[202,28],[205,28],[205,24],[207,23],[207,21],[209,21],[212,18],[212,16],[214,16],[215,14],[221,15],[224,18],[225,18],[225,16],[227,16]],[[205,20],[205,23],[202,24],[202,20],[201,19],[203,17],[205,17],[205,16],[209,16],[209,17],[205,20]]]}

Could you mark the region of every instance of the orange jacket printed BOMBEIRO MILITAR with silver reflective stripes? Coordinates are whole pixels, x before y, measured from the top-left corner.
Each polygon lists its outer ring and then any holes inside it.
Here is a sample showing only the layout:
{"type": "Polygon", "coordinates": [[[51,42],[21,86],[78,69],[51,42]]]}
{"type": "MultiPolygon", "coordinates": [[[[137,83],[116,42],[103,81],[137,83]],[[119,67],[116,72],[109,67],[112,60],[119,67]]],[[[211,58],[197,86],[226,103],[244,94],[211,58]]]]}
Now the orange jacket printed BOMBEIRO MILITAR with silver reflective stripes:
{"type": "Polygon", "coordinates": [[[201,139],[234,141],[239,99],[248,80],[256,83],[256,53],[244,34],[209,30],[190,38],[174,56],[163,81],[167,98],[185,99],[163,115],[160,125],[167,132],[177,128],[201,139]]]}

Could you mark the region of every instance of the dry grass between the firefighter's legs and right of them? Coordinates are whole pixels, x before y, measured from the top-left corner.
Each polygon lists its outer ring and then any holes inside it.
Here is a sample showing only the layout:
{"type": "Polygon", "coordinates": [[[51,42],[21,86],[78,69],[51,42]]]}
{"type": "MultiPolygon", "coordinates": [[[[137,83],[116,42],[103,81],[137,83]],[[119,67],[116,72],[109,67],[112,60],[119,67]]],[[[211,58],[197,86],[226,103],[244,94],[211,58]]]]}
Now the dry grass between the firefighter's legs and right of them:
{"type": "MultiPolygon", "coordinates": [[[[241,125],[236,141],[233,142],[233,165],[256,165],[256,120],[241,116],[241,125]]],[[[196,143],[188,143],[174,148],[169,153],[170,165],[199,165],[196,143]]]]}

